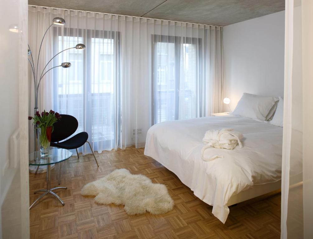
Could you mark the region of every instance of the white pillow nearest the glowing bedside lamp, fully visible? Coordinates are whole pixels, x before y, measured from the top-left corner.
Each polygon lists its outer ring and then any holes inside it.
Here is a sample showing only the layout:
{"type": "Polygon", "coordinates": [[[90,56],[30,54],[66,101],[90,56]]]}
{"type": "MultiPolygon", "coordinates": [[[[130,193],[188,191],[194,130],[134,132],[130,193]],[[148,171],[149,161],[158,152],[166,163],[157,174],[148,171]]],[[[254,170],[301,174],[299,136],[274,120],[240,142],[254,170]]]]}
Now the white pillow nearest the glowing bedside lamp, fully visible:
{"type": "Polygon", "coordinates": [[[268,120],[273,115],[276,101],[278,100],[277,97],[244,93],[231,114],[252,119],[268,120]]]}

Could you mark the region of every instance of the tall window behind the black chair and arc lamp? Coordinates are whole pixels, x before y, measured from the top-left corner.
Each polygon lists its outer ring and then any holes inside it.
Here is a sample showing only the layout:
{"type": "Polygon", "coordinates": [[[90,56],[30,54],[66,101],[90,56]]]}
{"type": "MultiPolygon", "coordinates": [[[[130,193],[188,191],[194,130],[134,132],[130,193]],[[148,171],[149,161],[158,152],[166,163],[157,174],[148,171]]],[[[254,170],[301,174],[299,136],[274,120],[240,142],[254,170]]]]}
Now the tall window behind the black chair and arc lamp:
{"type": "MultiPolygon", "coordinates": [[[[56,68],[54,109],[71,114],[79,122],[76,133],[91,132],[95,143],[114,140],[114,83],[117,81],[120,46],[119,33],[55,27],[55,49],[84,43],[86,50],[69,49],[57,63],[70,62],[69,69],[56,68]],[[62,33],[62,34],[61,34],[62,33]]],[[[105,145],[106,147],[107,145],[105,145]]],[[[95,146],[97,148],[97,146],[95,146]]]]}

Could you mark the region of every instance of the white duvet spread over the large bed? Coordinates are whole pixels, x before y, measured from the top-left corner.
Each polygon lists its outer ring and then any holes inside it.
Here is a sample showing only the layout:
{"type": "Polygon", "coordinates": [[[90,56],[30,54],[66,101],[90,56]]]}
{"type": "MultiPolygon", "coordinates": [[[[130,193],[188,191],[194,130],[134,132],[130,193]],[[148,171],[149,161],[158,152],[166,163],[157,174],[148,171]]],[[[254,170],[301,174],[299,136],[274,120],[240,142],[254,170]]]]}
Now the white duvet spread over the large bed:
{"type": "Polygon", "coordinates": [[[281,127],[234,115],[168,121],[148,130],[145,155],[175,173],[225,223],[231,196],[281,179],[282,135],[281,127]],[[242,133],[243,148],[209,148],[204,156],[224,158],[203,161],[205,132],[222,128],[242,133]]]}

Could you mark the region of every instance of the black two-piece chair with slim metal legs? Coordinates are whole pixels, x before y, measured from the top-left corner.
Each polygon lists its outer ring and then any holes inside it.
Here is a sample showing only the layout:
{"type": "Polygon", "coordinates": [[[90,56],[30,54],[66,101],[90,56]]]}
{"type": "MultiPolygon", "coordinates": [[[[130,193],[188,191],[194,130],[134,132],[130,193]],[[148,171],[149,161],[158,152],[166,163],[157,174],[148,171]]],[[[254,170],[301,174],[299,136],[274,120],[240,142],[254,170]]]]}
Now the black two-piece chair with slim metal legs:
{"type": "MultiPolygon", "coordinates": [[[[54,146],[54,147],[58,147],[62,149],[68,149],[68,150],[76,149],[76,153],[79,158],[77,148],[83,146],[87,142],[89,144],[92,154],[94,155],[97,166],[99,167],[94,151],[92,150],[91,145],[88,142],[87,132],[80,132],[77,135],[74,135],[73,137],[59,143],[59,141],[62,141],[68,138],[69,136],[71,136],[72,134],[74,134],[78,128],[78,121],[74,116],[69,115],[69,114],[60,114],[60,115],[62,116],[62,118],[53,124],[53,132],[51,134],[50,146],[54,146]]],[[[59,184],[61,182],[60,181],[61,167],[62,167],[62,162],[60,163],[59,184]]]]}

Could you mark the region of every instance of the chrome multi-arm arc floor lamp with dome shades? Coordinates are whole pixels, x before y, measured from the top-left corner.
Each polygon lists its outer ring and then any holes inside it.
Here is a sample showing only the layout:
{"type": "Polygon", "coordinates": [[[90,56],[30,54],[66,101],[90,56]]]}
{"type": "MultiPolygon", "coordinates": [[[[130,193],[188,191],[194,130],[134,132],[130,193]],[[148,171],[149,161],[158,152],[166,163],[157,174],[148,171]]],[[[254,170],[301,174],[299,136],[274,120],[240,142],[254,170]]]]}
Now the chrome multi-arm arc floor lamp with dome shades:
{"type": "MultiPolygon", "coordinates": [[[[28,56],[30,56],[28,58],[28,62],[32,68],[32,73],[33,73],[33,80],[34,80],[34,92],[35,92],[35,106],[34,106],[34,114],[36,113],[36,111],[38,111],[38,91],[39,91],[39,84],[41,82],[41,80],[43,79],[44,75],[47,74],[50,70],[56,68],[56,67],[63,67],[63,68],[69,68],[71,66],[71,63],[70,62],[63,62],[61,65],[58,65],[58,66],[54,66],[52,68],[50,68],[49,70],[46,70],[45,69],[47,68],[48,64],[52,61],[52,59],[54,57],[56,57],[57,55],[59,55],[60,53],[66,51],[66,50],[69,50],[69,49],[78,49],[78,50],[83,50],[83,49],[86,49],[86,46],[82,43],[79,43],[77,44],[76,46],[74,47],[70,47],[70,48],[67,48],[65,50],[62,50],[60,51],[58,54],[54,55],[50,60],[49,62],[46,64],[46,66],[44,67],[44,69],[42,70],[40,76],[38,77],[38,64],[39,64],[39,56],[40,56],[40,50],[41,50],[41,46],[42,46],[42,43],[44,41],[44,37],[46,35],[46,33],[48,32],[48,30],[50,29],[51,26],[53,25],[61,25],[61,26],[64,26],[65,25],[65,20],[63,18],[60,18],[60,17],[56,17],[56,18],[53,18],[53,21],[52,21],[52,24],[49,26],[49,28],[45,31],[44,33],[44,36],[41,40],[41,43],[40,43],[40,47],[39,47],[39,52],[38,52],[38,58],[37,58],[37,66],[35,66],[34,64],[34,60],[33,60],[33,54],[32,54],[32,51],[28,45],[28,56]]],[[[35,129],[36,127],[34,127],[34,151],[37,150],[37,130],[35,129]]]]}

